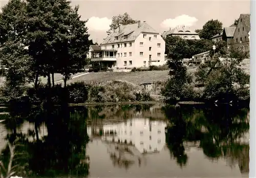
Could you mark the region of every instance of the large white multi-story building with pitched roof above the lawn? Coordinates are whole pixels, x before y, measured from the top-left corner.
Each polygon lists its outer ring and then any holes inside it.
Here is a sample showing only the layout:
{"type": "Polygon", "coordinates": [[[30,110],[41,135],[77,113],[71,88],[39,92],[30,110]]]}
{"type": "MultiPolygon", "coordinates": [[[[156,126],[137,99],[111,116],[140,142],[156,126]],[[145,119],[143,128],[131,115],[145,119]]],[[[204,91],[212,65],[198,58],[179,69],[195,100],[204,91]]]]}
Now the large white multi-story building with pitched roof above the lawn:
{"type": "Polygon", "coordinates": [[[145,21],[119,26],[100,47],[100,50],[91,51],[91,60],[99,61],[102,68],[132,69],[165,63],[165,41],[145,21]],[[94,53],[99,56],[93,57],[94,53]]]}

